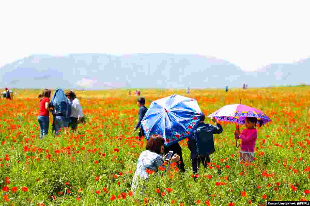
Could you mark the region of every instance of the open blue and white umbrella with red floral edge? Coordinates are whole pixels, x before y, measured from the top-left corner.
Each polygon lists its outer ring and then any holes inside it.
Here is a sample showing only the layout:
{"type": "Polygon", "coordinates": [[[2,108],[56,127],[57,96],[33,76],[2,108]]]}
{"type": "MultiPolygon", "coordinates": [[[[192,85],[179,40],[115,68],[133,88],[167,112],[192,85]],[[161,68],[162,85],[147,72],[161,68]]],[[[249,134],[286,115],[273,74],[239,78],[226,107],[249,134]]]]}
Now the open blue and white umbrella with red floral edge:
{"type": "Polygon", "coordinates": [[[153,101],[141,124],[147,140],[160,134],[168,146],[192,135],[201,114],[195,99],[171,95],[153,101]]]}

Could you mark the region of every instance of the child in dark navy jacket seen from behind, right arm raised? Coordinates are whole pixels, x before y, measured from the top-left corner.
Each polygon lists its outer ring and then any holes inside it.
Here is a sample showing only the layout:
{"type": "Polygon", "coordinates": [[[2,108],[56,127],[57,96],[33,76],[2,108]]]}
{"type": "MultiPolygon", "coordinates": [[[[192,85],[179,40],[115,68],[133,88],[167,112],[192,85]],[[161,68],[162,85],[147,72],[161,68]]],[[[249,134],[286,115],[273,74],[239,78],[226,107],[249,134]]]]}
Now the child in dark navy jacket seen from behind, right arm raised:
{"type": "Polygon", "coordinates": [[[189,137],[187,142],[188,149],[191,151],[194,173],[197,172],[200,162],[205,168],[207,167],[207,162],[210,162],[210,154],[215,152],[213,134],[223,132],[222,126],[217,123],[215,118],[212,120],[216,123],[216,126],[205,124],[204,120],[205,115],[202,114],[196,130],[193,132],[193,137],[189,137]]]}

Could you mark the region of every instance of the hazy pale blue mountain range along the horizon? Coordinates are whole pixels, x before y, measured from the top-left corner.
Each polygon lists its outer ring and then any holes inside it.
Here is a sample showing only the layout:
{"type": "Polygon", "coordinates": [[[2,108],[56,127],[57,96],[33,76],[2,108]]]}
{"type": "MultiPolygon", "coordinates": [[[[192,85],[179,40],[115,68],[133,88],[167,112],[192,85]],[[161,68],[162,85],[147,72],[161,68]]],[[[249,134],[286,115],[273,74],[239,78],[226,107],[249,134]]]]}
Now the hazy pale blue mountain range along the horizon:
{"type": "Polygon", "coordinates": [[[310,58],[255,72],[214,57],[183,54],[32,55],[0,68],[1,87],[224,88],[309,84],[310,58]]]}

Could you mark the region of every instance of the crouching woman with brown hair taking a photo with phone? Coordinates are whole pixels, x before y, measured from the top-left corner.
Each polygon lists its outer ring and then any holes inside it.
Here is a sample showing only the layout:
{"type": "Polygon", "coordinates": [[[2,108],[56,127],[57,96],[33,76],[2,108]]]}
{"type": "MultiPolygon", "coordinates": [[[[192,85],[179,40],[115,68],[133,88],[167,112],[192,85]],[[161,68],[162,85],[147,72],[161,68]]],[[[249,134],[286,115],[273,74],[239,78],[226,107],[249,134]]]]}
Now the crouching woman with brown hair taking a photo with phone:
{"type": "MultiPolygon", "coordinates": [[[[135,171],[135,175],[132,178],[131,188],[134,192],[134,195],[136,188],[138,185],[140,186],[138,183],[143,184],[143,182],[147,181],[150,175],[149,173],[152,173],[150,171],[157,172],[158,167],[162,166],[164,163],[167,156],[165,155],[162,157],[161,155],[164,153],[164,143],[164,138],[158,134],[154,134],[148,139],[146,150],[140,154],[137,162],[137,169],[135,171]]],[[[169,159],[168,162],[173,164],[178,162],[179,159],[179,155],[175,154],[172,158],[169,159]]],[[[143,187],[142,190],[144,190],[143,187]]]]}

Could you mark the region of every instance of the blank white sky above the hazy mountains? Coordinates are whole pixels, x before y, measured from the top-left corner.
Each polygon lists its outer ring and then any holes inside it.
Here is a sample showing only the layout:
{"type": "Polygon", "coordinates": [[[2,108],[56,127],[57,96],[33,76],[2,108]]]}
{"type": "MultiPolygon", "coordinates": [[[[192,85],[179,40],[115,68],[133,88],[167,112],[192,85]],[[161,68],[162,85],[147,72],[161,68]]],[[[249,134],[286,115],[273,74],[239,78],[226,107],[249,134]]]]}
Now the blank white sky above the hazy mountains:
{"type": "Polygon", "coordinates": [[[310,57],[310,1],[0,2],[0,67],[32,54],[199,54],[255,71],[310,57]]]}

